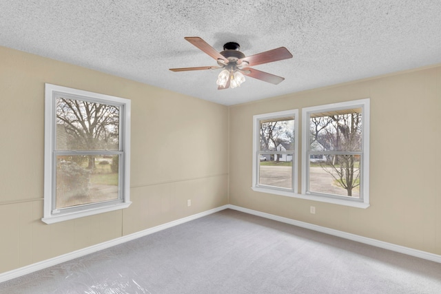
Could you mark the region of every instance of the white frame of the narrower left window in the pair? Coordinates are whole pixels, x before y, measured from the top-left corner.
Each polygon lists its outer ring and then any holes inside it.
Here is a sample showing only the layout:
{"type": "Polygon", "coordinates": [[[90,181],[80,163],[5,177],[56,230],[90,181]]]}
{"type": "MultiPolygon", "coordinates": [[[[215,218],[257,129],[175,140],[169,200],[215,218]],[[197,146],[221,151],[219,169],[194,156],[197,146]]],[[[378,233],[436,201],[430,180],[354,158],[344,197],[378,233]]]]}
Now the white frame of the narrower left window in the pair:
{"type": "MultiPolygon", "coordinates": [[[[280,153],[280,151],[275,151],[274,153],[280,153]]],[[[294,197],[297,194],[298,189],[298,109],[285,110],[282,112],[271,112],[269,114],[258,114],[253,116],[253,180],[252,189],[254,191],[271,193],[281,196],[294,197]],[[293,154],[293,164],[292,164],[292,189],[272,187],[267,185],[259,185],[259,165],[260,165],[260,120],[274,119],[274,118],[294,118],[294,154],[293,154]]]]}

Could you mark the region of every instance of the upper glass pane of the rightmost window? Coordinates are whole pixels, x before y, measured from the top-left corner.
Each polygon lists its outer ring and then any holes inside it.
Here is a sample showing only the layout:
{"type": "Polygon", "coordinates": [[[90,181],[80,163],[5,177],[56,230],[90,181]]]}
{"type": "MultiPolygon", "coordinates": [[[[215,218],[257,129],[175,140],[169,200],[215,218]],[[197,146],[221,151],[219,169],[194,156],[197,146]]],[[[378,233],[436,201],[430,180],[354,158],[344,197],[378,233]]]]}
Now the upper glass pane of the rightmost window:
{"type": "Polygon", "coordinates": [[[361,151],[362,108],[311,114],[309,151],[361,151]]]}

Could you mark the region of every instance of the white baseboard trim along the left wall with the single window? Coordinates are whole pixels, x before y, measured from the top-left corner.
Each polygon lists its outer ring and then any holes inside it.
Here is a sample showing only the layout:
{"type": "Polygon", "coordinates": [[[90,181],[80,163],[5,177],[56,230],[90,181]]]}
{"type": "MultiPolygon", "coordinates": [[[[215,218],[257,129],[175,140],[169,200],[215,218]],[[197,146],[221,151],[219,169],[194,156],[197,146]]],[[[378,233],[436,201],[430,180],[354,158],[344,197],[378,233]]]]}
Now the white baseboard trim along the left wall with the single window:
{"type": "Polygon", "coordinates": [[[139,231],[136,233],[132,233],[130,235],[125,235],[120,238],[116,238],[107,242],[103,242],[100,244],[96,244],[90,247],[86,247],[84,249],[79,249],[76,251],[72,251],[70,253],[66,253],[55,258],[50,258],[48,260],[43,260],[41,262],[37,262],[34,264],[30,264],[28,266],[23,266],[19,269],[14,269],[12,271],[7,271],[6,273],[0,274],[0,283],[8,280],[12,280],[16,277],[21,277],[22,275],[27,275],[28,273],[33,273],[34,271],[39,271],[41,269],[48,268],[49,266],[54,266],[57,264],[61,264],[62,262],[67,262],[69,260],[73,260],[75,258],[81,258],[84,255],[88,255],[90,253],[94,253],[96,251],[100,251],[103,249],[110,248],[112,246],[116,246],[119,244],[123,244],[124,242],[128,242],[131,240],[135,240],[137,238],[141,238],[145,235],[150,235],[152,233],[156,233],[158,231],[162,231],[165,229],[169,229],[171,227],[177,226],[178,224],[183,224],[185,222],[189,222],[190,220],[196,220],[197,218],[202,218],[203,216],[208,216],[209,214],[216,213],[218,211],[229,208],[228,205],[224,205],[222,207],[217,207],[215,209],[210,209],[208,211],[203,211],[201,213],[196,213],[193,216],[187,216],[186,218],[180,218],[179,220],[174,220],[172,222],[167,222],[165,224],[160,224],[156,227],[152,227],[150,229],[146,229],[144,231],[139,231]]]}

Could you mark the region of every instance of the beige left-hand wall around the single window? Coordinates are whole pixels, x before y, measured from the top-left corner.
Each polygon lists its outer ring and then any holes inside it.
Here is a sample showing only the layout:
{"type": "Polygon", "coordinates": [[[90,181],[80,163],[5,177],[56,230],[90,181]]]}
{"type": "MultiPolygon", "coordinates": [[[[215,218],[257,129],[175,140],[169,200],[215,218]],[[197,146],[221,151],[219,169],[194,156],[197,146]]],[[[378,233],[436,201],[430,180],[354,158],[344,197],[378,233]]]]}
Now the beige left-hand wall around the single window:
{"type": "Polygon", "coordinates": [[[0,47],[0,273],[227,204],[227,146],[223,105],[0,47]],[[131,99],[128,209],[41,222],[44,83],[131,99]]]}

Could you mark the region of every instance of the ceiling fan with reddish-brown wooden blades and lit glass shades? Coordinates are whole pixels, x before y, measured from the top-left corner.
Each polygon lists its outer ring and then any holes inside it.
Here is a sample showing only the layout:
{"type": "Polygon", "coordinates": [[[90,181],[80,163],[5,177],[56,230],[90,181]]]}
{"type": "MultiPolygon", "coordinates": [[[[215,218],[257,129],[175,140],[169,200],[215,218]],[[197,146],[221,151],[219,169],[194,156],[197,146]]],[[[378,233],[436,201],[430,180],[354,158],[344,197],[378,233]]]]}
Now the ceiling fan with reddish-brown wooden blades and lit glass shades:
{"type": "Polygon", "coordinates": [[[250,76],[252,78],[257,78],[260,81],[277,85],[281,81],[285,80],[285,78],[275,76],[274,74],[269,74],[267,72],[262,72],[260,70],[255,70],[250,66],[280,61],[283,59],[290,59],[292,57],[292,54],[285,47],[276,48],[251,56],[245,56],[245,54],[239,51],[240,45],[235,42],[226,43],[223,45],[223,51],[218,52],[198,36],[186,36],[184,39],[195,45],[209,56],[212,56],[212,58],[217,61],[218,65],[170,68],[170,70],[172,72],[185,72],[189,70],[212,70],[223,68],[216,81],[218,90],[240,86],[241,83],[245,82],[245,76],[250,76]]]}

